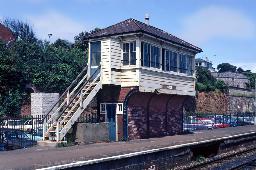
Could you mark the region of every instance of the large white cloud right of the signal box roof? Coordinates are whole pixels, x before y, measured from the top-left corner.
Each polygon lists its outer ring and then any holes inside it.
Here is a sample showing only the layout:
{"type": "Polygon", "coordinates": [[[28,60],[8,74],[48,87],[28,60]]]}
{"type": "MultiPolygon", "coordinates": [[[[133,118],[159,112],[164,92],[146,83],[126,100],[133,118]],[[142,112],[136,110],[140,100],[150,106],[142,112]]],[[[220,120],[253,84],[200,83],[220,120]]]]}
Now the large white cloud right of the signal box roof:
{"type": "Polygon", "coordinates": [[[178,37],[201,45],[212,38],[255,39],[255,22],[242,12],[221,6],[201,9],[184,20],[178,37]]]}

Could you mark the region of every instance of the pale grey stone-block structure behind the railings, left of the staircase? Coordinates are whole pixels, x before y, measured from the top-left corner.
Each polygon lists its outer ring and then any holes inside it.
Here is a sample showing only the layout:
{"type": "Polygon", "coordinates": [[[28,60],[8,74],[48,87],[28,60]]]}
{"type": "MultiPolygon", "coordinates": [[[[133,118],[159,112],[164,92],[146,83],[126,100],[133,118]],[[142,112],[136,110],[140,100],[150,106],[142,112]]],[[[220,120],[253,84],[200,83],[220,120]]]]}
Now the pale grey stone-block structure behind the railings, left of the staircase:
{"type": "MultiPolygon", "coordinates": [[[[31,115],[44,116],[58,101],[58,93],[31,93],[31,115]]],[[[58,104],[52,110],[53,114],[58,109],[58,104]]]]}

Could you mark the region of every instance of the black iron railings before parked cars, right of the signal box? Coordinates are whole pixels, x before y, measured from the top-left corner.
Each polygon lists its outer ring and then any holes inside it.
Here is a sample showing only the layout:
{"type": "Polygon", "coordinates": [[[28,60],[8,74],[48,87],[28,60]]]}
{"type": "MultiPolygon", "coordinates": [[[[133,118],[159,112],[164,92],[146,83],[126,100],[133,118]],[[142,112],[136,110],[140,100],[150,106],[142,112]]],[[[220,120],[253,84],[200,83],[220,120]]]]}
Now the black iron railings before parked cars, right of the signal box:
{"type": "MultiPolygon", "coordinates": [[[[189,127],[187,130],[212,129],[234,127],[254,124],[254,114],[225,114],[225,113],[184,113],[183,127],[189,127]],[[205,126],[206,124],[206,126],[205,126]],[[194,129],[195,128],[195,129],[194,129]]],[[[184,130],[186,130],[184,128],[184,130]]]]}

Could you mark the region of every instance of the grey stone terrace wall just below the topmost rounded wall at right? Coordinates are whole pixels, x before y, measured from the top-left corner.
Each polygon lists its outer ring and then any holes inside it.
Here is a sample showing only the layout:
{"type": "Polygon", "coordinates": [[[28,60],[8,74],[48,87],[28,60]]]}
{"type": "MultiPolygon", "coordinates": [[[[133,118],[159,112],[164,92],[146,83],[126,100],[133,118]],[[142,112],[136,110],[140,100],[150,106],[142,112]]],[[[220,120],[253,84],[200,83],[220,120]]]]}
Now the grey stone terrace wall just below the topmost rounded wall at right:
{"type": "Polygon", "coordinates": [[[216,80],[224,81],[228,86],[231,87],[239,87],[239,88],[247,88],[245,83],[250,85],[250,81],[247,78],[234,78],[234,77],[215,77],[216,80]]]}

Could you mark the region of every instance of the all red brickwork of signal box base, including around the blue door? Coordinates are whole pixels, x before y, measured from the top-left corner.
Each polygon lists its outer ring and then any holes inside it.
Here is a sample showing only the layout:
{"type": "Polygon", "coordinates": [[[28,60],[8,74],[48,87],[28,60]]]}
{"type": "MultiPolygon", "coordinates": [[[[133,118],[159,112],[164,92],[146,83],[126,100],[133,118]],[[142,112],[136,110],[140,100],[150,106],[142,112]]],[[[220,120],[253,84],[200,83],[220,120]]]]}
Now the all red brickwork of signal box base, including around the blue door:
{"type": "MultiPolygon", "coordinates": [[[[104,86],[101,90],[101,103],[120,103],[134,87],[104,86]]],[[[128,140],[150,138],[182,133],[183,101],[187,96],[136,92],[128,99],[128,140]],[[152,98],[151,98],[152,97],[152,98]],[[169,100],[170,99],[170,100],[169,100]],[[148,101],[149,115],[148,115],[148,101]],[[167,134],[166,134],[166,104],[167,134]],[[148,124],[149,116],[149,124],[148,124]],[[149,127],[149,128],[148,128],[149,127]],[[149,129],[149,134],[148,134],[149,129]]],[[[101,114],[105,121],[105,115],[101,114]]],[[[117,115],[118,140],[123,137],[123,115],[117,115]]]]}

